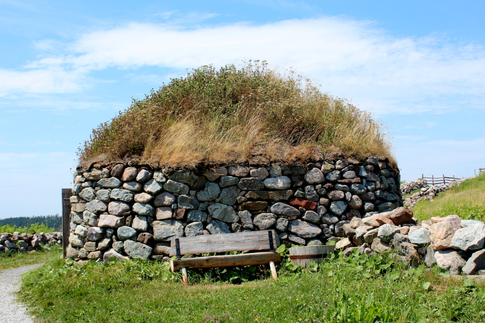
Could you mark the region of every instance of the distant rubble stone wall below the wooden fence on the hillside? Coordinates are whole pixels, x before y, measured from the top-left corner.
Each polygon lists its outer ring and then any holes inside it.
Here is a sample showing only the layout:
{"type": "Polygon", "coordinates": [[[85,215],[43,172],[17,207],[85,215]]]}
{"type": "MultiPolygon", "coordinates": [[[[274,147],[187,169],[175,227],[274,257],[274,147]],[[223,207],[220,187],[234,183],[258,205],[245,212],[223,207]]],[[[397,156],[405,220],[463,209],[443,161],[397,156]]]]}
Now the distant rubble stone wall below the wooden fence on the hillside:
{"type": "Polygon", "coordinates": [[[456,185],[460,185],[466,180],[467,178],[464,178],[441,186],[429,186],[426,181],[413,181],[401,184],[401,192],[404,196],[412,191],[420,189],[420,192],[407,196],[404,199],[404,205],[407,207],[414,207],[420,200],[433,200],[440,192],[444,192],[456,185]]]}

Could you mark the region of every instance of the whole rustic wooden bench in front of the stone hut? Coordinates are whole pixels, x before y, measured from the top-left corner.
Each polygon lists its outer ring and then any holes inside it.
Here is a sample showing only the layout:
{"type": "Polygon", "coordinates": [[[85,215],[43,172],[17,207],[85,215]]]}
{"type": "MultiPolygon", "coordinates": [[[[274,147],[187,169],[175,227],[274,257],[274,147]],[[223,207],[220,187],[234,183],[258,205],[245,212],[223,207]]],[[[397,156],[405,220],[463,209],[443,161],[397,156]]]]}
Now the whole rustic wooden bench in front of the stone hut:
{"type": "Polygon", "coordinates": [[[276,236],[274,230],[244,231],[237,233],[207,234],[195,237],[172,238],[170,270],[182,270],[184,285],[188,284],[187,268],[215,268],[248,265],[269,264],[273,279],[277,279],[275,262],[281,261],[281,255],[275,251],[276,236]],[[209,256],[184,258],[183,255],[193,255],[229,251],[262,251],[237,255],[209,256]]]}

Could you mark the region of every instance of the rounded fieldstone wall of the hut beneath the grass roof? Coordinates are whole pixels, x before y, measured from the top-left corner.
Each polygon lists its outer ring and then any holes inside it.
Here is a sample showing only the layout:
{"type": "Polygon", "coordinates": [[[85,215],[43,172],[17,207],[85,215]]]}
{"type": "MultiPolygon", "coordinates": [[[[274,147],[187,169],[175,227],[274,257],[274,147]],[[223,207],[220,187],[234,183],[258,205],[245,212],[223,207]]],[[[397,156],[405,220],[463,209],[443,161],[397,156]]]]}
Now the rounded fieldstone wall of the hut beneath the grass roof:
{"type": "Polygon", "coordinates": [[[90,165],[75,173],[67,257],[161,259],[172,237],[275,229],[285,245],[352,236],[402,206],[386,157],[218,169],[90,165]]]}

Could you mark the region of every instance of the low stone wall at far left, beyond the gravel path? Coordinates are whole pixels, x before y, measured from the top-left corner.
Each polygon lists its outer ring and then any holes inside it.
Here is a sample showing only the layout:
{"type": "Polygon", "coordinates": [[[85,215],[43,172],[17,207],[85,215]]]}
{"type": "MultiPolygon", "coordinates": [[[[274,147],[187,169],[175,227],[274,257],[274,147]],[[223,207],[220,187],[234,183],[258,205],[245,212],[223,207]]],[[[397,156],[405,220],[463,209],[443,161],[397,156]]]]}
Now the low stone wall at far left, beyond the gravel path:
{"type": "Polygon", "coordinates": [[[0,233],[0,251],[27,252],[44,245],[62,245],[62,232],[0,233]]]}

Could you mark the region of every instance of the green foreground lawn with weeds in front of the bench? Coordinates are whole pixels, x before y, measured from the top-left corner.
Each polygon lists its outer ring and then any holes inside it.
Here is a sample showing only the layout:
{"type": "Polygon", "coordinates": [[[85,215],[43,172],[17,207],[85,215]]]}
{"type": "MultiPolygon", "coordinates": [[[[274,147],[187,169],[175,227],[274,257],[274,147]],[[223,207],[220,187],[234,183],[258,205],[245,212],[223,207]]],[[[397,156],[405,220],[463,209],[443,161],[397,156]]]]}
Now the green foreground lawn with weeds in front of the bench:
{"type": "Polygon", "coordinates": [[[337,259],[318,272],[280,272],[277,282],[187,287],[178,278],[165,280],[163,268],[131,261],[66,268],[51,261],[24,278],[20,293],[46,323],[375,322],[376,316],[384,322],[485,322],[483,287],[447,282],[433,271],[412,273],[402,264],[366,278],[337,259]]]}

